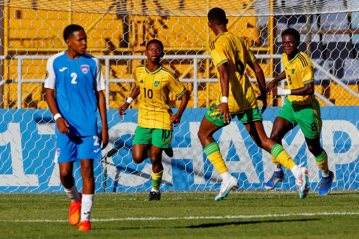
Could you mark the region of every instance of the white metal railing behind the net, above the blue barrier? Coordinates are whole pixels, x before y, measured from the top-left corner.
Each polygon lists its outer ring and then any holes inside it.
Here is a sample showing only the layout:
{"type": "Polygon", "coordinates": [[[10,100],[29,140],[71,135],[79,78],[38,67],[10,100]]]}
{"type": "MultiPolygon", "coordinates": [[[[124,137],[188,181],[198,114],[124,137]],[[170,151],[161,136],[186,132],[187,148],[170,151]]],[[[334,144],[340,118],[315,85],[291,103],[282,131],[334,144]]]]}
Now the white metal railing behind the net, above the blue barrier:
{"type": "MultiPolygon", "coordinates": [[[[17,83],[18,85],[18,92],[17,92],[17,108],[21,109],[22,107],[22,83],[43,83],[44,80],[43,79],[24,79],[23,78],[23,73],[22,73],[22,64],[23,64],[23,60],[28,60],[28,59],[32,59],[32,60],[47,60],[48,58],[50,58],[51,56],[0,56],[1,61],[5,60],[5,59],[11,59],[11,60],[17,60],[17,80],[3,80],[0,82],[0,86],[4,85],[5,83],[17,83]]],[[[105,61],[105,74],[104,74],[104,79],[105,79],[105,83],[106,83],[106,89],[105,89],[105,97],[106,97],[106,104],[107,107],[109,106],[109,94],[110,94],[110,86],[109,83],[134,83],[134,79],[133,78],[126,78],[126,79],[110,79],[110,60],[114,59],[114,60],[143,60],[145,59],[145,56],[143,55],[116,55],[116,56],[94,56],[98,59],[103,59],[105,61]]],[[[256,55],[257,58],[262,58],[262,59],[281,59],[281,55],[279,54],[257,54],[256,55]]],[[[199,60],[203,60],[203,59],[211,59],[211,56],[209,55],[186,55],[186,54],[175,54],[175,55],[166,55],[164,56],[163,59],[167,59],[167,60],[172,60],[172,59],[177,59],[177,60],[181,60],[181,59],[189,59],[191,60],[191,65],[193,68],[193,77],[191,78],[181,78],[180,81],[184,82],[184,83],[193,83],[193,97],[194,97],[194,106],[193,107],[198,107],[198,86],[200,82],[204,82],[204,83],[211,83],[211,82],[218,82],[217,78],[199,78],[198,76],[198,61],[199,60]]],[[[314,62],[314,61],[312,61],[314,62]]],[[[281,69],[283,68],[283,64],[280,63],[281,65],[281,69]]],[[[338,85],[342,86],[345,90],[347,90],[348,92],[350,92],[350,94],[352,94],[353,96],[355,96],[356,98],[359,99],[359,95],[358,93],[354,92],[353,90],[351,90],[348,86],[346,86],[343,82],[341,82],[337,77],[335,77],[334,75],[332,75],[330,72],[328,72],[327,70],[325,70],[323,67],[319,66],[318,64],[314,64],[314,68],[317,68],[319,71],[325,73],[328,77],[330,77],[332,79],[332,81],[334,81],[335,83],[337,83],[338,85]]],[[[273,78],[266,78],[266,81],[271,81],[273,78]]],[[[257,82],[256,78],[250,78],[251,82],[257,82]]],[[[284,88],[286,81],[281,81],[281,86],[284,88]]],[[[319,99],[321,99],[322,101],[324,101],[327,105],[333,106],[334,104],[329,101],[326,97],[324,97],[323,95],[319,94],[318,92],[314,93],[319,99]]],[[[281,102],[282,105],[284,104],[284,97],[281,97],[281,102]]]]}

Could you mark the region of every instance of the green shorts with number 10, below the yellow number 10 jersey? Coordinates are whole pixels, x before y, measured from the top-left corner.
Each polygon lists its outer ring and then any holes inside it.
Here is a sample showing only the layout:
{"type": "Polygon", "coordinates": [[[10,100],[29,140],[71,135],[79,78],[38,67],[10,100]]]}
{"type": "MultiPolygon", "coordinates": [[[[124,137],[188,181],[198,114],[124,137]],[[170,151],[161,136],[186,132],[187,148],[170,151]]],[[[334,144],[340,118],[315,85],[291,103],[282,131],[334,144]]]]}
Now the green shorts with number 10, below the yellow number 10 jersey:
{"type": "Polygon", "coordinates": [[[172,130],[137,126],[132,144],[152,144],[158,148],[171,147],[172,130]]]}

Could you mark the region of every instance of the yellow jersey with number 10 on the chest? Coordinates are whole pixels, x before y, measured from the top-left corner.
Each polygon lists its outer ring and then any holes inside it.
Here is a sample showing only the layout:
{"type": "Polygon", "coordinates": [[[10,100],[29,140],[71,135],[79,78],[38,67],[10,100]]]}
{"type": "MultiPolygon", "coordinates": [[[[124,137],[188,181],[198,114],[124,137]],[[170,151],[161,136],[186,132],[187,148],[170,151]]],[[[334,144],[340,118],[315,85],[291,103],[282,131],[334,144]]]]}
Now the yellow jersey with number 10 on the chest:
{"type": "Polygon", "coordinates": [[[147,64],[135,68],[136,87],[140,88],[138,125],[143,128],[172,130],[171,107],[168,105],[169,91],[177,97],[183,95],[186,87],[175,73],[164,66],[149,72],[147,64]]]}

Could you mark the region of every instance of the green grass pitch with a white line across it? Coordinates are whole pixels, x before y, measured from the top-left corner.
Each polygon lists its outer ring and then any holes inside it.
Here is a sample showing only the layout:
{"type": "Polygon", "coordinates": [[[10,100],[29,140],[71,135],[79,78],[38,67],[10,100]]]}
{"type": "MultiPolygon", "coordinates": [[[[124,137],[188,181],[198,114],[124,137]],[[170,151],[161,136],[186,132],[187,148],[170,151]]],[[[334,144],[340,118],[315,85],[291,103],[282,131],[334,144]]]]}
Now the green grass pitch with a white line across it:
{"type": "Polygon", "coordinates": [[[67,221],[65,194],[0,194],[0,238],[358,238],[359,192],[97,193],[93,230],[67,221]],[[325,215],[327,214],[327,215],[325,215]],[[150,219],[152,217],[152,219],[150,219]],[[100,220],[102,219],[102,220],[100,220]],[[45,221],[48,220],[48,221],[45,221]]]}

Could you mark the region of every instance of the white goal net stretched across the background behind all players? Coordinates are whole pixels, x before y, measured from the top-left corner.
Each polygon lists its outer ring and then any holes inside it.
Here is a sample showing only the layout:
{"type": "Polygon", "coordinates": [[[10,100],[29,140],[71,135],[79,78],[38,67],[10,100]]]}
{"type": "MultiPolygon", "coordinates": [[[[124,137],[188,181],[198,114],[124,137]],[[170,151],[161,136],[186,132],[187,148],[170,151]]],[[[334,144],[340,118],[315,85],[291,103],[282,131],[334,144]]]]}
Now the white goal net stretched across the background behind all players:
{"type": "MultiPolygon", "coordinates": [[[[88,52],[98,57],[106,80],[110,141],[103,158],[95,159],[97,192],[137,192],[151,187],[149,159],[132,161],[132,138],[138,101],[124,120],[117,108],[129,96],[132,70],[145,62],[148,40],[164,43],[162,64],[176,72],[191,94],[181,124],[174,129],[173,158],[163,155],[162,190],[216,190],[220,178],[197,137],[207,108],[219,94],[209,55],[214,39],[206,14],[223,8],[228,29],[251,46],[266,81],[283,71],[281,32],[300,32],[300,50],[314,64],[315,95],[321,105],[321,143],[335,172],[334,190],[359,188],[359,2],[357,0],[176,0],[176,1],[1,1],[0,3],[0,192],[62,192],[55,163],[55,122],[44,100],[47,59],[64,51],[62,38],[69,24],[84,27],[88,52]]],[[[246,69],[257,94],[258,84],[246,69]]],[[[281,82],[286,87],[286,82],[281,82]]],[[[284,97],[268,96],[264,126],[270,134],[284,97]]],[[[179,106],[170,97],[174,111],[179,106]]],[[[261,106],[261,104],[260,104],[261,106]]],[[[242,123],[233,120],[215,134],[239,189],[262,190],[274,171],[270,155],[257,147],[242,123]]],[[[299,127],[283,139],[297,164],[310,169],[311,188],[321,178],[299,127]]],[[[79,164],[75,178],[82,185],[79,164]]],[[[292,173],[277,190],[295,190],[292,173]]]]}

